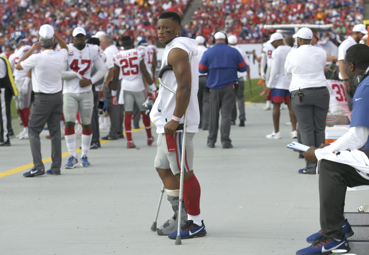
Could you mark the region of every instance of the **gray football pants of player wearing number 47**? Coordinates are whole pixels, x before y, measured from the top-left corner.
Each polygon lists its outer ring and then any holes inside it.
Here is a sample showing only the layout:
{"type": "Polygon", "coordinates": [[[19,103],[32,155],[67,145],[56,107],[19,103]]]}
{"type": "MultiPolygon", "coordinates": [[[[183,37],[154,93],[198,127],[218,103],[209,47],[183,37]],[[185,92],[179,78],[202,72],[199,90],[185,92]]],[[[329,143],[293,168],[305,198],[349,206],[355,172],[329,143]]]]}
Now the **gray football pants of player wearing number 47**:
{"type": "Polygon", "coordinates": [[[92,90],[83,93],[63,94],[63,113],[65,122],[75,122],[77,111],[82,125],[90,125],[93,110],[92,90]]]}

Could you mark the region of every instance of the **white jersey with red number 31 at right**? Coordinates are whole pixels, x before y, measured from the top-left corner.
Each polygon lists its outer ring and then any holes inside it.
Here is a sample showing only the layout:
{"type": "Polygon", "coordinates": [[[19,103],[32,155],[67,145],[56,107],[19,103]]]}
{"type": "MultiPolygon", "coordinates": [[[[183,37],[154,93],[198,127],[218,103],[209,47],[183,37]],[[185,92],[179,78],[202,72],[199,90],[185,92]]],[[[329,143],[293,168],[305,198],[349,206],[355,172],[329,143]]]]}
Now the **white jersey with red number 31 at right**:
{"type": "Polygon", "coordinates": [[[342,81],[327,80],[329,90],[329,112],[339,116],[349,116],[350,110],[347,105],[345,85],[342,81]]]}

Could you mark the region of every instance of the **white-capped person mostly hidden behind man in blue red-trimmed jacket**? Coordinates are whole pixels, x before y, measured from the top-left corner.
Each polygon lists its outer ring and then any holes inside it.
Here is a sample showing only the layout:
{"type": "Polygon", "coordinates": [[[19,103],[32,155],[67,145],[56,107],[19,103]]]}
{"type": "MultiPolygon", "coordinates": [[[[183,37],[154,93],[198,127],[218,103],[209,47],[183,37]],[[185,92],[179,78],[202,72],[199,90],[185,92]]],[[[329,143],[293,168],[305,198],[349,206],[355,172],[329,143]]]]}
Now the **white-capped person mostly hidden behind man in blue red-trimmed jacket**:
{"type": "MultiPolygon", "coordinates": [[[[245,63],[247,65],[247,55],[245,50],[242,50],[239,46],[236,46],[237,44],[237,37],[235,35],[231,35],[228,38],[228,42],[230,43],[230,46],[232,48],[235,48],[238,50],[238,52],[241,54],[242,58],[245,60],[245,63]]],[[[245,80],[244,77],[246,77],[246,79],[248,80],[250,78],[250,67],[247,67],[247,71],[246,72],[237,72],[237,76],[238,76],[238,89],[237,89],[237,94],[236,94],[236,98],[237,98],[237,104],[238,104],[238,109],[239,109],[239,126],[243,127],[245,126],[245,120],[246,120],[246,115],[245,115],[245,95],[244,95],[244,91],[245,91],[245,80]]],[[[232,122],[235,123],[237,117],[237,110],[236,110],[236,104],[234,104],[233,110],[232,110],[232,122]]]]}

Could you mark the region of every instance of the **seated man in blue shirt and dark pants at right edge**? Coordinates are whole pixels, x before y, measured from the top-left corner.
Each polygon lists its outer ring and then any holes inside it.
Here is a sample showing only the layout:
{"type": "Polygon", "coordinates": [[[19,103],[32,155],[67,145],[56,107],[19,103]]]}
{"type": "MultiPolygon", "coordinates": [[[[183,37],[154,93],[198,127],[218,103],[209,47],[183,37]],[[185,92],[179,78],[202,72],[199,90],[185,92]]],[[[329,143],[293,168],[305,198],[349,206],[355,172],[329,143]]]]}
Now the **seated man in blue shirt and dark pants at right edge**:
{"type": "MultiPolygon", "coordinates": [[[[352,82],[356,74],[368,67],[369,47],[356,44],[348,48],[344,60],[345,74],[352,82]]],[[[349,131],[334,143],[324,144],[320,149],[311,146],[304,157],[318,162],[320,227],[321,231],[311,235],[310,247],[296,252],[298,255],[324,254],[333,249],[350,250],[347,237],[354,233],[344,218],[347,187],[369,185],[369,77],[357,87],[352,100],[352,119],[349,131]],[[329,145],[329,146],[328,146],[329,145]],[[366,150],[359,151],[363,146],[366,150]],[[333,153],[334,152],[334,153],[333,153]],[[324,248],[324,249],[323,249],[324,248]]]]}

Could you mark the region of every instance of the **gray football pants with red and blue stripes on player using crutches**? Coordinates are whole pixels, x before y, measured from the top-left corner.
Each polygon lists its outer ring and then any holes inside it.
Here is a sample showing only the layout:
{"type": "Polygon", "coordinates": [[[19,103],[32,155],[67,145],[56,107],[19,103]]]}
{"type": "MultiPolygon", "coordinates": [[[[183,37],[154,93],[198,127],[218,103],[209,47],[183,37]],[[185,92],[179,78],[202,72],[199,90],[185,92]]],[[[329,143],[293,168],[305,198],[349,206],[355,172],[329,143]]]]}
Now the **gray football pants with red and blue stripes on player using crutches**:
{"type": "MultiPolygon", "coordinates": [[[[186,152],[184,154],[184,172],[193,170],[193,137],[195,133],[186,134],[186,152]]],[[[175,133],[174,141],[176,151],[168,151],[165,134],[158,134],[156,145],[156,157],[154,162],[155,168],[172,170],[173,174],[180,174],[181,172],[181,156],[182,156],[182,133],[175,133]]]]}

